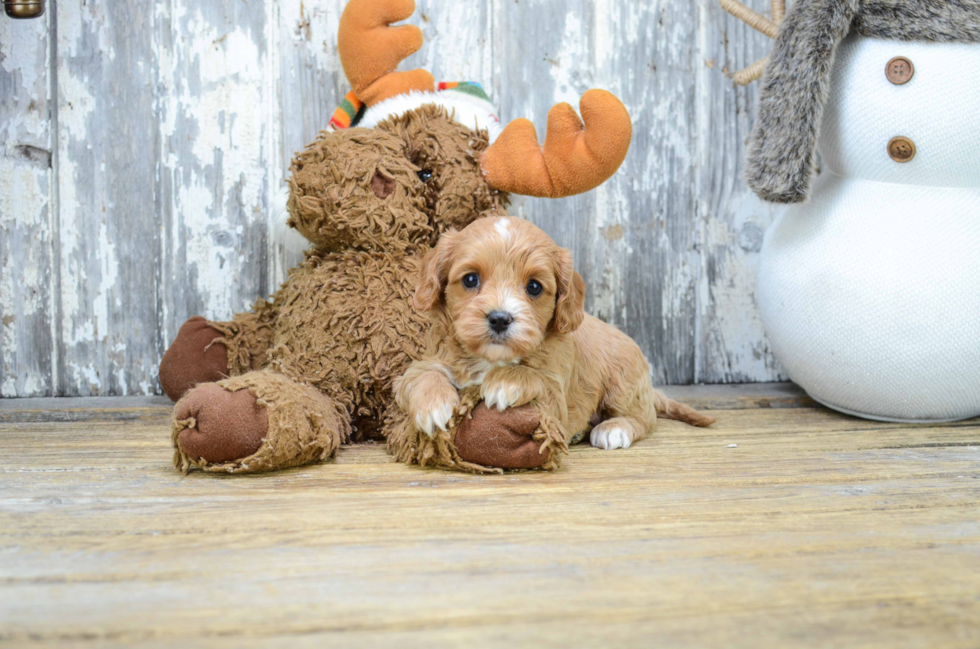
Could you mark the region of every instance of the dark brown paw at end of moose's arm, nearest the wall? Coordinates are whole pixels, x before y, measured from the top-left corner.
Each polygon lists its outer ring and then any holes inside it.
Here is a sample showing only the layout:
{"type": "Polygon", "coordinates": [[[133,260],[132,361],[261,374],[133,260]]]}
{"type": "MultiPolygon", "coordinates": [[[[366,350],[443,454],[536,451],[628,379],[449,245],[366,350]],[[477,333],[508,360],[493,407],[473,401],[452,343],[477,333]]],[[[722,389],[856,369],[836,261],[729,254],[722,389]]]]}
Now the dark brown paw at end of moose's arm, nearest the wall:
{"type": "Polygon", "coordinates": [[[210,383],[228,373],[228,350],[215,343],[220,331],[199,315],[180,327],[177,338],[160,361],[160,386],[177,401],[198,383],[210,383]]]}

